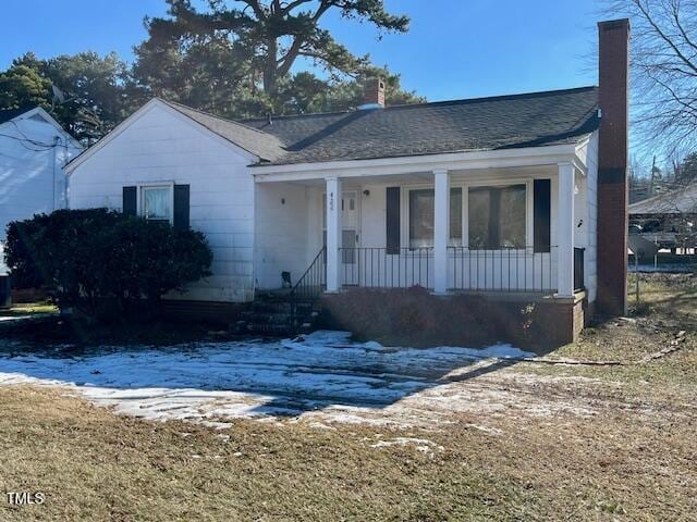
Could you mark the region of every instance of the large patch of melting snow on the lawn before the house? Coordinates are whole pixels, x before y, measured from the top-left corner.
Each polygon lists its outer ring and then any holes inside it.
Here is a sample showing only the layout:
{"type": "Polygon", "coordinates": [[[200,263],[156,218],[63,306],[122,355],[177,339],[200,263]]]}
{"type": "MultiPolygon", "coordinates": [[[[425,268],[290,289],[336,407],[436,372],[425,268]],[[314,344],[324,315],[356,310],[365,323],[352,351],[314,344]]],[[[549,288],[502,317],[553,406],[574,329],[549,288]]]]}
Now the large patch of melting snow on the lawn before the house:
{"type": "Polygon", "coordinates": [[[0,353],[0,385],[64,386],[121,413],[220,427],[235,418],[414,425],[510,408],[587,413],[521,398],[500,377],[488,378],[514,362],[506,359],[533,356],[510,345],[388,348],[322,331],[293,340],[111,347],[72,358],[11,351],[0,353]]]}

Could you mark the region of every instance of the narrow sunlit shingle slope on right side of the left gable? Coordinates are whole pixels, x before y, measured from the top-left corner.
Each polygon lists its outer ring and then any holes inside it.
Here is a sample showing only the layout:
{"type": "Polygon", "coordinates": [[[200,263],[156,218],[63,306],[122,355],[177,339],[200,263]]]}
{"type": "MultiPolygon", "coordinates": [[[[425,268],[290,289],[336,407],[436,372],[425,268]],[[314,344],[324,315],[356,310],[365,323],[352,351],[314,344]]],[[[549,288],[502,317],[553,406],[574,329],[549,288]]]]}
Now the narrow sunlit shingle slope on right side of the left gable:
{"type": "Polygon", "coordinates": [[[272,162],[285,154],[281,140],[271,134],[264,133],[243,123],[213,116],[173,101],[161,101],[228,141],[242,147],[254,156],[258,156],[262,162],[272,162]]]}

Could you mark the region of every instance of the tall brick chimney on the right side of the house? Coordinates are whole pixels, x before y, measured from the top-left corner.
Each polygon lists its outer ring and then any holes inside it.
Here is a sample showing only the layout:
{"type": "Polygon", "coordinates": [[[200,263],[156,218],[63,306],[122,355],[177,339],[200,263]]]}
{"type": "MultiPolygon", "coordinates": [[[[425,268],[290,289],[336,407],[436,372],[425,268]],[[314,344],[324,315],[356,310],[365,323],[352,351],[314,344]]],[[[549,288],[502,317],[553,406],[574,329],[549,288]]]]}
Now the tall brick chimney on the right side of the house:
{"type": "Polygon", "coordinates": [[[598,296],[603,315],[626,313],[629,21],[600,22],[598,296]]]}

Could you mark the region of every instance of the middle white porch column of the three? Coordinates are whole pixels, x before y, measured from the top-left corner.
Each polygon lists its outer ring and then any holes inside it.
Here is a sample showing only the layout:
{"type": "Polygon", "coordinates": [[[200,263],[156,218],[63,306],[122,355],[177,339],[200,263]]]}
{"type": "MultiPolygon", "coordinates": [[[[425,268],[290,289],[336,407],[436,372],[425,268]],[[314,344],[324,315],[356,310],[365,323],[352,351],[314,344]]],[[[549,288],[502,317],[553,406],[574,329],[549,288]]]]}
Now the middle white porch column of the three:
{"type": "Polygon", "coordinates": [[[433,171],[433,293],[448,291],[448,238],[450,237],[450,175],[433,171]]]}

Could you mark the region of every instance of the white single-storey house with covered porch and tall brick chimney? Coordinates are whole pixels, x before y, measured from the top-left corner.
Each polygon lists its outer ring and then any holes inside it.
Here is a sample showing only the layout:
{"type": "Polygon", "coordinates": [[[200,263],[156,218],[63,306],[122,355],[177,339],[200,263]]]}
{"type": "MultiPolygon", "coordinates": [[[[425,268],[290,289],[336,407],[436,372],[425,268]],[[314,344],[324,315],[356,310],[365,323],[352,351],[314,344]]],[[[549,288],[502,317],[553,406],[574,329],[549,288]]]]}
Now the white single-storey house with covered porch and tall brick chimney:
{"type": "Polygon", "coordinates": [[[386,108],[374,82],[353,112],[245,122],[155,99],[68,165],[70,204],[206,233],[213,275],[186,306],[290,272],[326,299],[523,297],[571,340],[625,310],[628,22],[599,30],[599,87],[386,108]]]}

